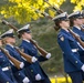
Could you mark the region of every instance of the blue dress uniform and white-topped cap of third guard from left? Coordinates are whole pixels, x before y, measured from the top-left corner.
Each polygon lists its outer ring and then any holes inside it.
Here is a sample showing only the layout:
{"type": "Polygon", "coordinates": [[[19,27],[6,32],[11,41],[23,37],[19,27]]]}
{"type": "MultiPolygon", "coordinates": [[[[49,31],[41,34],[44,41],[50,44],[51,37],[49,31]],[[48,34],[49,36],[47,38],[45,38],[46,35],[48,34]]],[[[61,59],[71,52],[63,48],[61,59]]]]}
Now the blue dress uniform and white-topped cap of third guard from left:
{"type": "MultiPolygon", "coordinates": [[[[27,32],[30,33],[30,29],[29,29],[30,24],[21,28],[20,30],[18,30],[18,32],[27,32]]],[[[42,55],[39,56],[38,54],[38,50],[35,49],[35,46],[28,40],[22,40],[22,43],[20,45],[21,49],[24,50],[24,53],[31,55],[31,56],[35,56],[38,58],[38,61],[35,63],[32,64],[32,68],[36,69],[36,73],[39,73],[41,75],[41,80],[36,81],[35,79],[33,79],[33,83],[51,83],[48,75],[45,74],[45,72],[42,70],[42,68],[40,66],[39,62],[45,61],[48,59],[43,58],[42,55]]]]}

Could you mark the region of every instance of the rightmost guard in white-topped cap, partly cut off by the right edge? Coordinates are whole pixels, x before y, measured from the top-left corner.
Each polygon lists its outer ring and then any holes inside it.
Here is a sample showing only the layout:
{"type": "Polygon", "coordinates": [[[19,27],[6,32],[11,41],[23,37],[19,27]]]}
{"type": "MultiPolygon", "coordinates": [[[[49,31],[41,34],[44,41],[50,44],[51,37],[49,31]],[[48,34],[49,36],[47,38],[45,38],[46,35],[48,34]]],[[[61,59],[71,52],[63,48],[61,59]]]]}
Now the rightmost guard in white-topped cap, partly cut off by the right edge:
{"type": "MultiPolygon", "coordinates": [[[[72,30],[80,35],[81,40],[84,41],[84,31],[82,30],[82,24],[83,24],[83,15],[81,11],[73,12],[69,15],[70,18],[70,25],[73,28],[72,30]]],[[[84,63],[84,48],[77,42],[78,44],[78,53],[81,61],[84,63]]],[[[84,80],[84,72],[83,74],[83,80],[84,80]]]]}

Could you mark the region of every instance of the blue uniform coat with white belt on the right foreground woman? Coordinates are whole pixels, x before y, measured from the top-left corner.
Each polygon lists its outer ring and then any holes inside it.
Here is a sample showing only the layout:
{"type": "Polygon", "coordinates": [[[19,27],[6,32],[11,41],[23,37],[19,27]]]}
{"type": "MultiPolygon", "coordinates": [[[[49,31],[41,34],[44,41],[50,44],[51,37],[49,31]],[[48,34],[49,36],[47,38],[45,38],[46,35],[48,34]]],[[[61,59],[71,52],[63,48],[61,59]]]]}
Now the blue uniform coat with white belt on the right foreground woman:
{"type": "Polygon", "coordinates": [[[83,63],[80,61],[80,54],[77,52],[78,48],[76,41],[69,32],[62,29],[57,35],[57,43],[60,44],[60,48],[62,49],[63,52],[65,72],[72,79],[74,79],[74,83],[75,79],[78,82],[82,82],[81,68],[83,63]]]}

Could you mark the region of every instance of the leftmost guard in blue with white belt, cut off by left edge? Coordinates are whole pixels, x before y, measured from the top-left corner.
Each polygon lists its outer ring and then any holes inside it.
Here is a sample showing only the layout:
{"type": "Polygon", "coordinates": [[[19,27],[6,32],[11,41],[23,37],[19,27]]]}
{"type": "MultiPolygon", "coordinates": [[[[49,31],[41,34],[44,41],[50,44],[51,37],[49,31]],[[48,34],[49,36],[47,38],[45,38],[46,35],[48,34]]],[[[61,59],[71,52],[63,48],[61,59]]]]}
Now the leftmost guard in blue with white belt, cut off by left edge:
{"type": "MultiPolygon", "coordinates": [[[[1,38],[0,38],[0,46],[2,46],[1,38]]],[[[12,74],[10,61],[1,50],[0,50],[0,83],[18,83],[12,74]]]]}

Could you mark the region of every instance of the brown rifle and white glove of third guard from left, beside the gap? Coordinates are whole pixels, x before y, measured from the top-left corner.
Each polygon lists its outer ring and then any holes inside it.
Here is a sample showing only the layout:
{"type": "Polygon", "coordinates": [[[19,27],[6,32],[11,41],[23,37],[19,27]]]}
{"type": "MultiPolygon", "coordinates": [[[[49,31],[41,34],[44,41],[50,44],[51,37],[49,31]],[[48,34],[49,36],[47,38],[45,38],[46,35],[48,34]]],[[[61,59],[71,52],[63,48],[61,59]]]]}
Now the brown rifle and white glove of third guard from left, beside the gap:
{"type": "Polygon", "coordinates": [[[34,40],[30,40],[35,46],[36,49],[39,50],[39,52],[44,56],[44,58],[48,58],[46,55],[49,55],[48,59],[51,58],[51,53],[48,53],[44,49],[42,49],[40,45],[38,45],[38,43],[34,41],[34,40]]]}

